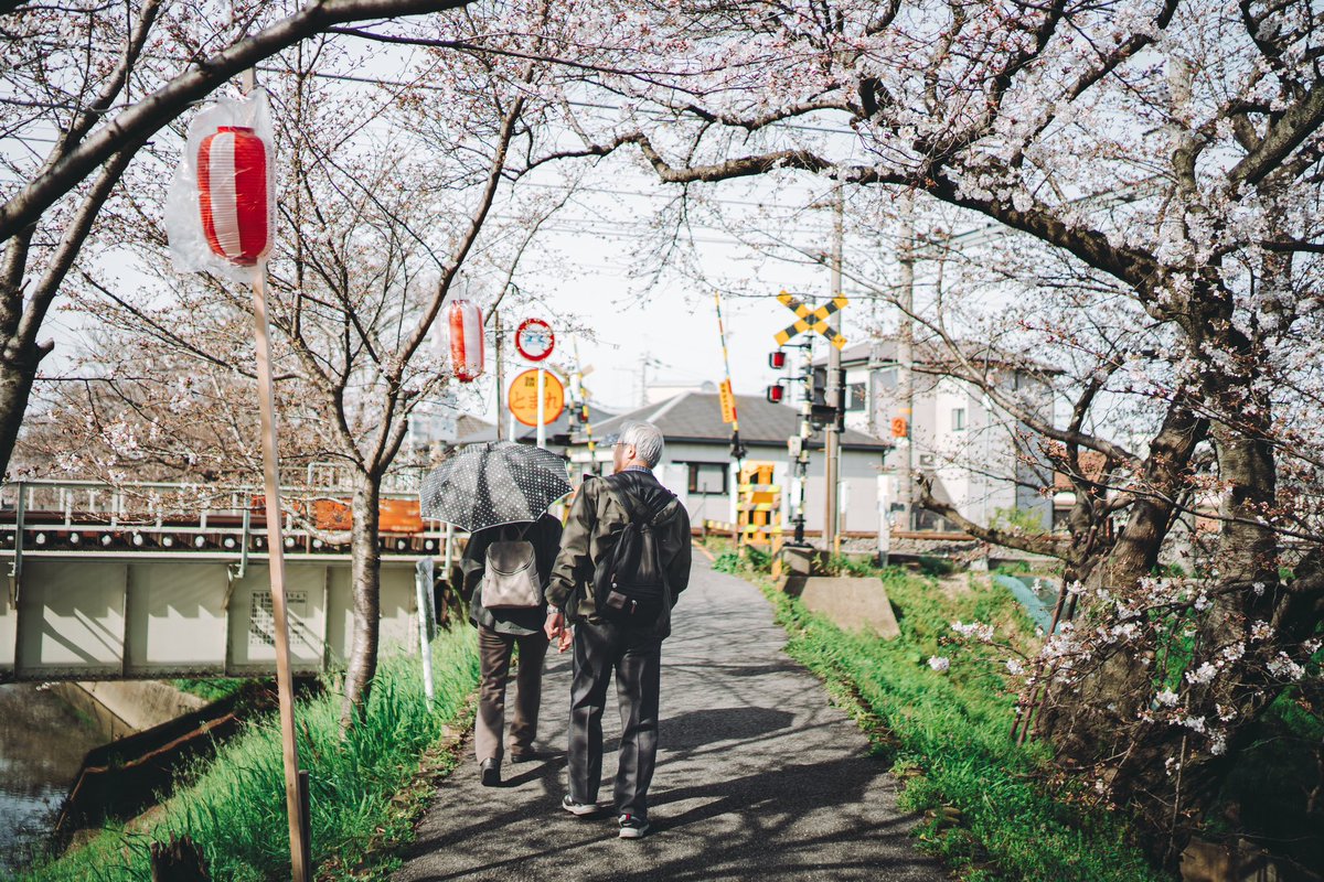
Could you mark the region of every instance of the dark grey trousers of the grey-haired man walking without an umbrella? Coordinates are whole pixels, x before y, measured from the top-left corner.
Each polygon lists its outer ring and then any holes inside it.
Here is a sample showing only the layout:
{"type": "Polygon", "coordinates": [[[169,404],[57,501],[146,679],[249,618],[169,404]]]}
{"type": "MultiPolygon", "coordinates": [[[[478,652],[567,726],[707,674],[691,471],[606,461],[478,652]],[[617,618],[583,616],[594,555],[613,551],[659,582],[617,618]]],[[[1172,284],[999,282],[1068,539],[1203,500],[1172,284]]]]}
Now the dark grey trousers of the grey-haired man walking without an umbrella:
{"type": "Polygon", "coordinates": [[[602,783],[602,709],[616,674],[621,706],[616,811],[647,817],[649,784],[658,752],[658,692],[662,640],[610,623],[575,625],[575,676],[571,682],[571,799],[596,803],[602,783]]]}

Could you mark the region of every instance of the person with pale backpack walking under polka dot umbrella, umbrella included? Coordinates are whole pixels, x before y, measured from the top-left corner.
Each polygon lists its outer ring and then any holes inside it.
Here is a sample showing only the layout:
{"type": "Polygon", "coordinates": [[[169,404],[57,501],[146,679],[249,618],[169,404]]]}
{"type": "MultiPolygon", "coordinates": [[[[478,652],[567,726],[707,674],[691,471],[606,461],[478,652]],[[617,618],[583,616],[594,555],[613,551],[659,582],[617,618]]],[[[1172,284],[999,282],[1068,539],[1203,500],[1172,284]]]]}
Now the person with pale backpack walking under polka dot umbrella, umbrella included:
{"type": "Polygon", "coordinates": [[[535,759],[547,636],[543,592],[561,541],[547,506],[571,492],[565,461],[545,450],[496,442],[470,444],[424,480],[424,517],[470,532],[458,583],[471,591],[478,628],[479,688],[474,754],[487,787],[500,784],[506,688],[519,652],[511,762],[535,759]]]}

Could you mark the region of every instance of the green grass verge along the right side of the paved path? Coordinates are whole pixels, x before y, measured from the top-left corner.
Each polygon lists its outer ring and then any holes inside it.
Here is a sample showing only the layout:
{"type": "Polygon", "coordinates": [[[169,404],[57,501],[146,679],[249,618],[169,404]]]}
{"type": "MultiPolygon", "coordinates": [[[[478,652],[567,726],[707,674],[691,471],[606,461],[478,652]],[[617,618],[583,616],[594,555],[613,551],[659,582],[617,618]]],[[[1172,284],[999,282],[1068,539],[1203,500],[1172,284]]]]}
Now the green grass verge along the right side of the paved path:
{"type": "MultiPolygon", "coordinates": [[[[719,558],[720,561],[720,558],[719,558]]],[[[735,562],[727,562],[728,566],[735,562]]],[[[1006,649],[955,647],[951,623],[989,621],[998,639],[1029,645],[1031,627],[1006,590],[973,583],[952,595],[935,579],[874,570],[898,608],[900,637],[843,632],[759,583],[790,640],[788,652],[853,710],[875,751],[908,780],[906,808],[924,812],[923,848],[972,882],[1148,882],[1166,879],[1127,834],[1125,819],[1053,785],[1045,744],[1009,738],[1013,696],[1006,649]],[[937,673],[931,656],[951,657],[937,673]]]]}

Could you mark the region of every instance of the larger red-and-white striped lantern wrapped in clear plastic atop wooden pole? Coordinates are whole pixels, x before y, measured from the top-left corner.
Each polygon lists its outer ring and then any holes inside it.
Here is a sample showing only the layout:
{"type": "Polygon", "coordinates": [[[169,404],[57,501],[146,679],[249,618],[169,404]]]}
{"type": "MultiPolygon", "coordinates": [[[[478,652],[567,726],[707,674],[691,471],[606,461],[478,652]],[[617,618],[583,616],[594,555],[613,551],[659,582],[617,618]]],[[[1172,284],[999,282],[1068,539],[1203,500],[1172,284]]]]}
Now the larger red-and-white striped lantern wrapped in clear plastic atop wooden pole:
{"type": "Polygon", "coordinates": [[[266,144],[252,128],[221,126],[197,149],[197,208],[212,253],[253,266],[271,243],[266,144]]]}

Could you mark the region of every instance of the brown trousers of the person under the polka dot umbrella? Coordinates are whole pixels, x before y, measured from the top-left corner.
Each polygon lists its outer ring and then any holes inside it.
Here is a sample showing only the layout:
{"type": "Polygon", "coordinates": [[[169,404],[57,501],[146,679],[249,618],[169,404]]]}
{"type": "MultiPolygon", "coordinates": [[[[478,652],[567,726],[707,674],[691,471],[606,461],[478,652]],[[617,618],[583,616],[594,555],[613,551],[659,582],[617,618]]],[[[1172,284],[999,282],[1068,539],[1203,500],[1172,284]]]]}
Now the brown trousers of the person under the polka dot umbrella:
{"type": "Polygon", "coordinates": [[[519,645],[519,684],[515,715],[510,722],[510,748],[519,754],[534,747],[538,734],[538,707],[543,701],[543,659],[547,657],[547,635],[502,633],[478,627],[478,719],[474,722],[474,752],[478,762],[500,762],[502,731],[506,727],[506,684],[510,681],[510,657],[519,645]]]}

